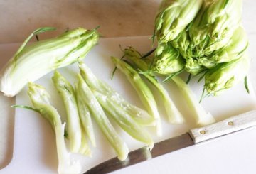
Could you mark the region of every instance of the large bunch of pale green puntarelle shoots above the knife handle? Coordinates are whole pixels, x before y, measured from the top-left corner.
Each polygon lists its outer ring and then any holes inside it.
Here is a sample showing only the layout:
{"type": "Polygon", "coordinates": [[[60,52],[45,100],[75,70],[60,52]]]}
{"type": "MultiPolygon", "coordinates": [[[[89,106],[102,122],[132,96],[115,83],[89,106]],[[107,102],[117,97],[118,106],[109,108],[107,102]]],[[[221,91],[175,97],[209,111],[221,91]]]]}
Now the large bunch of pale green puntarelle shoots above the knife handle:
{"type": "Polygon", "coordinates": [[[167,76],[181,70],[202,73],[208,94],[232,87],[246,77],[250,67],[241,15],[242,0],[162,1],[151,69],[167,76]]]}

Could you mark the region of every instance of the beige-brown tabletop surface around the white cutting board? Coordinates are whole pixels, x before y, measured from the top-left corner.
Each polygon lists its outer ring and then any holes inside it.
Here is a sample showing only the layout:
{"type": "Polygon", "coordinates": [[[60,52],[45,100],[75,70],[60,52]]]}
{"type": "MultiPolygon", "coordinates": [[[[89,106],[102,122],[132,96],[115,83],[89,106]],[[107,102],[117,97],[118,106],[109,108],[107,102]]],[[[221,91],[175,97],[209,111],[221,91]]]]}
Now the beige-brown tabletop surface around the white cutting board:
{"type": "MultiPolygon", "coordinates": [[[[58,31],[43,33],[40,38],[47,38],[62,33],[66,28],[78,26],[100,26],[100,33],[108,38],[149,36],[154,30],[154,16],[159,3],[159,0],[0,0],[0,43],[22,42],[31,31],[43,26],[53,26],[58,28],[58,31]]],[[[245,0],[243,5],[243,26],[249,40],[256,40],[256,1],[245,0]]],[[[256,56],[253,48],[256,48],[255,41],[250,42],[252,58],[256,56]]],[[[256,89],[255,61],[252,60],[250,75],[252,85],[256,89]]],[[[14,104],[14,98],[0,96],[0,168],[11,161],[14,127],[14,111],[9,109],[11,104],[14,104]]]]}

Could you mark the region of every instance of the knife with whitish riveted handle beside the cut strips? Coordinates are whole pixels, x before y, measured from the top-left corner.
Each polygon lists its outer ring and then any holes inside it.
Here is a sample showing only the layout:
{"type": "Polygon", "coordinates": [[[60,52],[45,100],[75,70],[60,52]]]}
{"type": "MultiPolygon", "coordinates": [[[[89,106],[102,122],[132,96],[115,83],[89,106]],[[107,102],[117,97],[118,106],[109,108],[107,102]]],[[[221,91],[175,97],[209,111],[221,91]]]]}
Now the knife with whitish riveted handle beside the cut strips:
{"type": "Polygon", "coordinates": [[[256,126],[256,109],[250,112],[245,112],[236,116],[232,116],[223,121],[203,126],[201,128],[191,129],[187,133],[174,138],[169,138],[165,141],[154,144],[154,148],[149,151],[147,146],[131,151],[128,154],[127,160],[119,161],[117,157],[100,163],[95,167],[87,170],[84,174],[102,174],[110,173],[114,170],[126,168],[129,165],[134,165],[142,161],[150,160],[158,156],[177,151],[181,148],[193,146],[203,141],[208,141],[213,138],[218,138],[227,134],[241,131],[243,129],[256,126]]]}

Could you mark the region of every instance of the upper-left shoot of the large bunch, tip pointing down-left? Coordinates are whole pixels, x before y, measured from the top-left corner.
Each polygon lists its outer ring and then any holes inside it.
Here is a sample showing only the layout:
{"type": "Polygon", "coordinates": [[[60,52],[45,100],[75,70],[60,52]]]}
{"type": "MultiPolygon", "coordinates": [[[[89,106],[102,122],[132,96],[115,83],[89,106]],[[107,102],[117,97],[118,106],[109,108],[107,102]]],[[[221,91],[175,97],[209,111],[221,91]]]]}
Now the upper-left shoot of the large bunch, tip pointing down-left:
{"type": "Polygon", "coordinates": [[[159,42],[174,40],[201,8],[202,0],[164,0],[156,16],[154,35],[159,42]]]}

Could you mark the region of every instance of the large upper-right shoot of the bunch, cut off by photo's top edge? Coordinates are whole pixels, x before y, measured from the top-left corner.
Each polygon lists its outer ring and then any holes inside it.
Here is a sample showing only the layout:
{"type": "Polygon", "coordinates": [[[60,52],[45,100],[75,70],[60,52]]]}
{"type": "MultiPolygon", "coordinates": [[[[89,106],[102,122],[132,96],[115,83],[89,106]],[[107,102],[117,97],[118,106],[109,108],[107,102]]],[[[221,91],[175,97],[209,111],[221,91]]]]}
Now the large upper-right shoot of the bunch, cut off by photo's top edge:
{"type": "Polygon", "coordinates": [[[204,1],[188,29],[194,57],[208,56],[225,47],[240,26],[241,14],[242,0],[204,1]]]}

